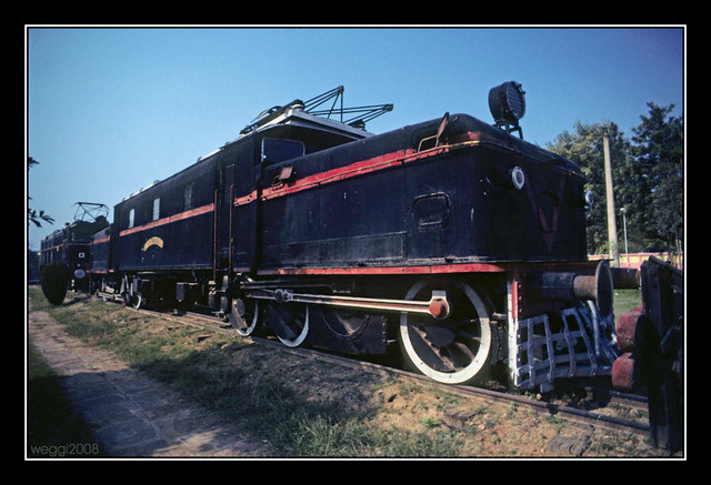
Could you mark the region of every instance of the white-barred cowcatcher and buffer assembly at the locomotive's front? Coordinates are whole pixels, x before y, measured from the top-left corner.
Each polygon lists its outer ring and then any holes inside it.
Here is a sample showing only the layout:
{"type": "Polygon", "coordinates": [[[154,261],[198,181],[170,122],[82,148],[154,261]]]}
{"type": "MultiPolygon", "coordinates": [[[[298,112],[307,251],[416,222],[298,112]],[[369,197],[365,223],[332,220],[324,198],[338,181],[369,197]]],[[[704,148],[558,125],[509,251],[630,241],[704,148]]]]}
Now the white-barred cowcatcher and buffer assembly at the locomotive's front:
{"type": "Polygon", "coordinates": [[[555,264],[517,267],[507,282],[508,368],[522,390],[555,380],[609,376],[618,356],[612,272],[555,264]]]}

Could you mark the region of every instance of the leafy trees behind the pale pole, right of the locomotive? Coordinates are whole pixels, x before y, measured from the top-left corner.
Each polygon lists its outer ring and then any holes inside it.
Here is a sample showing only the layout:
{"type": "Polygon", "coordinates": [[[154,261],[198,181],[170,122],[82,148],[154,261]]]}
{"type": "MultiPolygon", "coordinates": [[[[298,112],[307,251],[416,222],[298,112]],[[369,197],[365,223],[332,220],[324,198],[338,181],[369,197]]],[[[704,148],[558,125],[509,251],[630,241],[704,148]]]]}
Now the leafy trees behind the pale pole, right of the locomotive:
{"type": "Polygon", "coordinates": [[[625,209],[630,252],[675,251],[683,245],[683,121],[674,108],[648,103],[648,115],[628,139],[613,122],[577,121],[547,149],[575,162],[588,179],[595,203],[587,214],[588,252],[608,253],[602,131],[608,130],[614,184],[618,238],[623,244],[625,209]],[[634,144],[632,143],[634,142],[634,144]]]}

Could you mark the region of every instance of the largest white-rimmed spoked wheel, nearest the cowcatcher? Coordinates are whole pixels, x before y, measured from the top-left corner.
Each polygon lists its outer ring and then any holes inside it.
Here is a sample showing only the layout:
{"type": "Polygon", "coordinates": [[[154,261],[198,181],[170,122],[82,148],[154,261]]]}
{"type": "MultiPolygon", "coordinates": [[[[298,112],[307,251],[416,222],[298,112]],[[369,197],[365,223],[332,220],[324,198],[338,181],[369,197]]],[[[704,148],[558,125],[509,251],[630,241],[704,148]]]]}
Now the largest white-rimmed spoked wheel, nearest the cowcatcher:
{"type": "Polygon", "coordinates": [[[451,305],[447,319],[400,314],[400,345],[415,372],[445,384],[481,381],[490,370],[493,333],[484,300],[468,284],[443,284],[429,280],[415,283],[405,300],[429,301],[433,290],[445,290],[451,305]]]}

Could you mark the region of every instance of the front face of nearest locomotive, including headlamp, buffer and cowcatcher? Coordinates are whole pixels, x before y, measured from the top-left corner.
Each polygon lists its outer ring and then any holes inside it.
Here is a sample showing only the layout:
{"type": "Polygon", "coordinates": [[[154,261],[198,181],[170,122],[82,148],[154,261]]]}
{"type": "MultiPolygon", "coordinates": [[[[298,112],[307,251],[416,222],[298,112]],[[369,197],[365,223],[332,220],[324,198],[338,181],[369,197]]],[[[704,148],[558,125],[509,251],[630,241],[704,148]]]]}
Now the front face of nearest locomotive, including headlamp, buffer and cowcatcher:
{"type": "Polygon", "coordinates": [[[487,252],[511,261],[505,264],[511,382],[544,392],[559,378],[609,376],[619,353],[613,287],[623,273],[605,261],[587,261],[584,178],[573,162],[522,140],[521,84],[493,88],[489,101],[497,127],[520,134],[499,143],[509,152],[498,161],[503,170],[482,178],[491,220],[507,221],[502,231],[488,228],[495,235],[487,252]]]}

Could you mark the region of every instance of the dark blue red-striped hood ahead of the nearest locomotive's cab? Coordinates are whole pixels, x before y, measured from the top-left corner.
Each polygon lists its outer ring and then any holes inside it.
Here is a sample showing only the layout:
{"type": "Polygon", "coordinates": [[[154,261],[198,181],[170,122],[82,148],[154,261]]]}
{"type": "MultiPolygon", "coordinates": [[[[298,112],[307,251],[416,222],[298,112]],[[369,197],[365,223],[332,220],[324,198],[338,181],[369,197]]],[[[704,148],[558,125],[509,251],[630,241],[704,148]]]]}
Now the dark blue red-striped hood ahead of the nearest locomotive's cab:
{"type": "Polygon", "coordinates": [[[439,146],[433,120],[264,169],[260,270],[584,261],[579,169],[474,118],[447,121],[439,146]]]}

